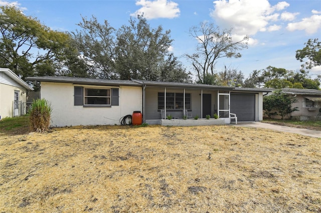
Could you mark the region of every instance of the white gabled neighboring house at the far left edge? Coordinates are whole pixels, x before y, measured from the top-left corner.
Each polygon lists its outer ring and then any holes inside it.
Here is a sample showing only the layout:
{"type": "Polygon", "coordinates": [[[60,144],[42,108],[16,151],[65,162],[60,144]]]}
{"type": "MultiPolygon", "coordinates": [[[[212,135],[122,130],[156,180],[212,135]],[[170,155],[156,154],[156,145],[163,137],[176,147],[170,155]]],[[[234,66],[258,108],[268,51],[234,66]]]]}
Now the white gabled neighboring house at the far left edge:
{"type": "Polygon", "coordinates": [[[8,68],[0,68],[0,116],[13,117],[26,113],[27,91],[34,90],[8,68]]]}

